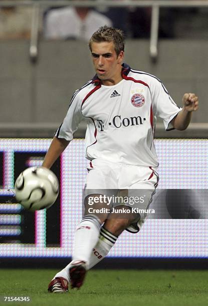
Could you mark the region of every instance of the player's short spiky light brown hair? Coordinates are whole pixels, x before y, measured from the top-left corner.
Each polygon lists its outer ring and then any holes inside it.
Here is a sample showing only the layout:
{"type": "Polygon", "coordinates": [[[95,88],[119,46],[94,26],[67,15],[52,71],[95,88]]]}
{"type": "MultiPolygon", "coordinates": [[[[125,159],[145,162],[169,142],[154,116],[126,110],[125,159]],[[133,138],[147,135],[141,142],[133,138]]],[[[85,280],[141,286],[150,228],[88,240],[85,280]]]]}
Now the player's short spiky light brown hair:
{"type": "Polygon", "coordinates": [[[94,32],[94,34],[90,38],[90,51],[92,51],[92,42],[102,41],[113,41],[117,55],[119,55],[121,51],[124,51],[124,32],[118,28],[110,27],[107,25],[99,27],[99,29],[94,32]]]}

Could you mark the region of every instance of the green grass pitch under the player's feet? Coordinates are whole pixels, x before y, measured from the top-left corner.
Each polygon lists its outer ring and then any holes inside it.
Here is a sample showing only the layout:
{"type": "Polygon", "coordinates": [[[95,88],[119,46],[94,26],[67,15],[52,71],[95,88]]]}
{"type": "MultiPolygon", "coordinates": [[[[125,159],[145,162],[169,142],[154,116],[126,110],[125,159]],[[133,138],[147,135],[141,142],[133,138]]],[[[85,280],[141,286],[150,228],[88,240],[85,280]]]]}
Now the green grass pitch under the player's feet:
{"type": "Polygon", "coordinates": [[[2,269],[1,304],[52,306],[205,306],[208,270],[90,270],[80,290],[50,294],[57,270],[2,269]],[[3,296],[29,296],[5,302],[3,296]]]}

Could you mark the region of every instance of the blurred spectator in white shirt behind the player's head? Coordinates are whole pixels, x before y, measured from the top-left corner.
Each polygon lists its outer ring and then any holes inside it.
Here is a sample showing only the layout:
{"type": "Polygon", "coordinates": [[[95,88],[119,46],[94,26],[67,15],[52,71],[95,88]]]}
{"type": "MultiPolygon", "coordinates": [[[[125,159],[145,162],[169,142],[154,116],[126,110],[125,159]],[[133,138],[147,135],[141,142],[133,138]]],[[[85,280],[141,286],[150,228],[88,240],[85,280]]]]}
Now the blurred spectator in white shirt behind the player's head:
{"type": "Polygon", "coordinates": [[[90,7],[62,7],[52,9],[45,15],[46,38],[81,38],[89,40],[103,25],[112,26],[111,20],[90,7]]]}

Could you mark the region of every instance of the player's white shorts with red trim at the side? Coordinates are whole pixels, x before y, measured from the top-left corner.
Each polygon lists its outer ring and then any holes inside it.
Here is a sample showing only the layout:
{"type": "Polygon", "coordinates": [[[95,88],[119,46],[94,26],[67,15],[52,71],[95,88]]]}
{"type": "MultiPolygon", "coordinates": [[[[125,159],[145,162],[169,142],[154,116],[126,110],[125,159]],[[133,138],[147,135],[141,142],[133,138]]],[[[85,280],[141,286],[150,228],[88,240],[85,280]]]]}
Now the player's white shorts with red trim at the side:
{"type": "MultiPolygon", "coordinates": [[[[106,194],[108,196],[126,193],[127,196],[136,197],[144,195],[144,200],[134,203],[134,207],[146,210],[152,200],[159,177],[155,169],[151,166],[136,166],[123,163],[114,163],[104,159],[94,159],[88,166],[84,199],[90,194],[106,194]],[[142,191],[141,191],[142,190],[142,191]],[[143,191],[144,190],[144,191],[143,191]],[[145,193],[145,194],[144,194],[145,193]]],[[[110,207],[120,205],[130,206],[127,203],[117,201],[110,202],[110,207]]],[[[141,212],[140,220],[146,217],[146,212],[141,212]]]]}

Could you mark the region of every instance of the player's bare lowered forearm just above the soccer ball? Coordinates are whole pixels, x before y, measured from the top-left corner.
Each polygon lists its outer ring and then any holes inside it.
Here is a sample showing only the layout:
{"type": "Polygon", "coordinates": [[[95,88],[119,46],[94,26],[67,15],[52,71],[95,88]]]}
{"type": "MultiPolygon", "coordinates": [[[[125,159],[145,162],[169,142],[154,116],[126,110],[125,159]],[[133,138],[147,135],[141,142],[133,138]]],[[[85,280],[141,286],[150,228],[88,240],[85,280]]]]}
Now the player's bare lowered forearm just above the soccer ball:
{"type": "Polygon", "coordinates": [[[43,167],[50,169],[54,162],[57,160],[57,158],[65,150],[69,142],[70,141],[66,139],[57,138],[56,136],[54,136],[51,145],[48,149],[48,152],[46,153],[46,156],[44,158],[43,167]]]}

